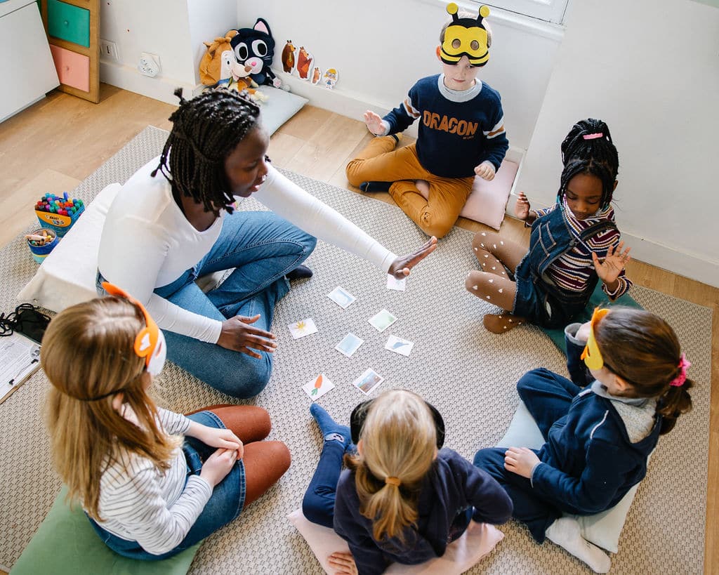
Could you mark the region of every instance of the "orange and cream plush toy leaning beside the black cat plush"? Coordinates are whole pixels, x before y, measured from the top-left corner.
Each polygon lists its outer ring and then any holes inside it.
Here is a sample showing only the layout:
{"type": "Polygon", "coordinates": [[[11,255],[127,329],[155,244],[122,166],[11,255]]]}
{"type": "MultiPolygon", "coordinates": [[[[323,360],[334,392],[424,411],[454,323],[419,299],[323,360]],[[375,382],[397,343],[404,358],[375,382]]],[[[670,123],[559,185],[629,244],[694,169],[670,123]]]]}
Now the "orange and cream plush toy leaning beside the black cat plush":
{"type": "Polygon", "coordinates": [[[237,62],[230,40],[237,35],[237,30],[229,30],[213,42],[203,42],[207,52],[200,60],[200,81],[205,86],[224,85],[237,91],[247,90],[257,102],[267,100],[267,96],[255,90],[257,84],[249,78],[252,68],[237,62]]]}

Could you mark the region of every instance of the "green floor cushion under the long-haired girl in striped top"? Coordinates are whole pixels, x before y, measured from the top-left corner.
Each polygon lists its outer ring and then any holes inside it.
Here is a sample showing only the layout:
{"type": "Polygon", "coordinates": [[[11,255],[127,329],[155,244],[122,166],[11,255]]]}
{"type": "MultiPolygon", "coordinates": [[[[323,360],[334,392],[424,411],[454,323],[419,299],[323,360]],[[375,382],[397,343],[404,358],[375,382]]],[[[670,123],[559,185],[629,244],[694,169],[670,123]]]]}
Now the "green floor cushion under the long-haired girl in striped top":
{"type": "Polygon", "coordinates": [[[50,512],[14,564],[12,575],[184,575],[201,543],[162,561],[119,556],[100,540],[79,505],[65,502],[63,485],[50,512]]]}

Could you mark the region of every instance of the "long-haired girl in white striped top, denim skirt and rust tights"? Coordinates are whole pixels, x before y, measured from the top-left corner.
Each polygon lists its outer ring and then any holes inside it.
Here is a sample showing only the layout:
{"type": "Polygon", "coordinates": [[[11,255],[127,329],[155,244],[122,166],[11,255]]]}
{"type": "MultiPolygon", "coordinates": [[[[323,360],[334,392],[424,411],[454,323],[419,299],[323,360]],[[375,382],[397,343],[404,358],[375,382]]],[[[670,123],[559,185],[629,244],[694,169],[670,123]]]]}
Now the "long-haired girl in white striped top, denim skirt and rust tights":
{"type": "Polygon", "coordinates": [[[52,459],[109,548],[167,558],[234,520],[290,453],[260,441],[270,433],[262,408],[157,408],[148,388],[165,363],[162,331],[137,300],[103,287],[114,297],[65,309],[42,339],[52,459]]]}

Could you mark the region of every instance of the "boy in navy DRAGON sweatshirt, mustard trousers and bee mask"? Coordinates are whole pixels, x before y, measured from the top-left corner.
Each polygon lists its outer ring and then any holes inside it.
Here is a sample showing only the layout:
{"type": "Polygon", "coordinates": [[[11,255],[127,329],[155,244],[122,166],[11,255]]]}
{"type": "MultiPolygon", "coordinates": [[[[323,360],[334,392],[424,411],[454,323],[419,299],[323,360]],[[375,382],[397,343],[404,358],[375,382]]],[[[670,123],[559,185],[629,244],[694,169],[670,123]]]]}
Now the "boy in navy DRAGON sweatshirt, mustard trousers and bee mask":
{"type": "Polygon", "coordinates": [[[444,24],[436,54],[442,73],[419,80],[397,108],[380,118],[365,112],[367,128],[378,137],[347,164],[347,180],[363,191],[389,191],[398,206],[428,236],[452,229],[472,191],[475,175],[492,180],[509,142],[499,93],[476,80],[489,60],[492,32],[480,7],[444,24]],[[395,149],[400,132],[420,120],[414,144],[395,149]],[[429,183],[424,199],[415,180],[429,183]]]}

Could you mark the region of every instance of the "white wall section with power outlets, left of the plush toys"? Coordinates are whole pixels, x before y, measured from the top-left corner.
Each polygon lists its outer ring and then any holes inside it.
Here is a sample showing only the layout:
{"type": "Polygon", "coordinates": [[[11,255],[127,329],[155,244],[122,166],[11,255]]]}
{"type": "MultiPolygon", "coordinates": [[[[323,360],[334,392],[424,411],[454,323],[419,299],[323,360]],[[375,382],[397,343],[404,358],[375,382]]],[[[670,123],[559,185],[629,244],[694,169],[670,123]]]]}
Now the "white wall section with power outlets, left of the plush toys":
{"type": "Polygon", "coordinates": [[[101,81],[173,104],[175,88],[191,92],[198,84],[202,42],[237,25],[235,0],[104,0],[100,5],[100,37],[117,44],[120,60],[101,57],[101,81]],[[160,58],[155,78],[137,70],[141,52],[160,58]]]}

